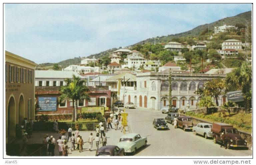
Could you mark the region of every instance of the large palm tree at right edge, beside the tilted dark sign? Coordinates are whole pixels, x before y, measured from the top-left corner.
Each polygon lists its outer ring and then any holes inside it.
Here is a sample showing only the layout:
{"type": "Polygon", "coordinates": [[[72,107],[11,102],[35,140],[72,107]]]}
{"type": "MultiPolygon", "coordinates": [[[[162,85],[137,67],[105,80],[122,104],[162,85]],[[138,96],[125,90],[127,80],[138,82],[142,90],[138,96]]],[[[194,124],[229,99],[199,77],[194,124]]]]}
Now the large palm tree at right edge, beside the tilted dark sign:
{"type": "Polygon", "coordinates": [[[252,102],[252,68],[243,63],[240,68],[227,74],[226,86],[235,87],[235,89],[242,91],[244,94],[244,107],[247,111],[252,102]]]}

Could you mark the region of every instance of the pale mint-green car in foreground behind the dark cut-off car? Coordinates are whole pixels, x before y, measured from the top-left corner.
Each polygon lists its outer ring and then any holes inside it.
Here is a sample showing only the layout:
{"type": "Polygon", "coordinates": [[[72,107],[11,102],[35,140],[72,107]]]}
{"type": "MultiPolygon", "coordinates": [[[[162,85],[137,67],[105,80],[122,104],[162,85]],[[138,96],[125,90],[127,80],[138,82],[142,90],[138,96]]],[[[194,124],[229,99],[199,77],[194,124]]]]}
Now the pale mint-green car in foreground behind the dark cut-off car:
{"type": "Polygon", "coordinates": [[[147,145],[147,137],[141,137],[138,133],[128,133],[121,136],[117,146],[124,148],[125,153],[135,154],[137,149],[147,145]]]}

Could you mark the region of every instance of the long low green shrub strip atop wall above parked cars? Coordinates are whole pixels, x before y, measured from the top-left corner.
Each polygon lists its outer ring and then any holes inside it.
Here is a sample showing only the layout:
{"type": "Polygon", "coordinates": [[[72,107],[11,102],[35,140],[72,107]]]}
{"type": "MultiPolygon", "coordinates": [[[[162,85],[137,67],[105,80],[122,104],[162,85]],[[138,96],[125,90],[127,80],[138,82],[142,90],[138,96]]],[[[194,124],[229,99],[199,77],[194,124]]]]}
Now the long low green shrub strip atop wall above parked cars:
{"type": "Polygon", "coordinates": [[[198,117],[198,118],[211,119],[211,120],[216,121],[216,122],[221,122],[221,123],[224,122],[224,123],[227,123],[227,124],[236,125],[240,128],[245,128],[247,130],[252,129],[251,125],[246,125],[244,123],[232,120],[230,118],[223,118],[223,117],[213,116],[213,115],[204,115],[204,114],[199,114],[199,113],[195,114],[194,112],[187,112],[186,114],[190,115],[190,116],[195,116],[195,117],[198,117]]]}

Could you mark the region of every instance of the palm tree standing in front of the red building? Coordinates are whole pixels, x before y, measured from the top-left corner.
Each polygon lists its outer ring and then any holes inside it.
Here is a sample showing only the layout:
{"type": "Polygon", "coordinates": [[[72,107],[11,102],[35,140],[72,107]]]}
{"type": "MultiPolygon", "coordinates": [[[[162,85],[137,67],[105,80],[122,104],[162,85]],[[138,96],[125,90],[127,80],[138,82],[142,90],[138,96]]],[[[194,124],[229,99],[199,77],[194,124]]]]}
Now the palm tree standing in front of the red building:
{"type": "Polygon", "coordinates": [[[60,86],[60,96],[59,102],[65,99],[72,99],[73,102],[73,113],[72,113],[72,121],[77,121],[77,100],[86,99],[90,101],[89,94],[86,93],[89,91],[89,88],[84,85],[86,81],[80,80],[79,77],[73,75],[73,79],[66,79],[66,86],[60,86]]]}

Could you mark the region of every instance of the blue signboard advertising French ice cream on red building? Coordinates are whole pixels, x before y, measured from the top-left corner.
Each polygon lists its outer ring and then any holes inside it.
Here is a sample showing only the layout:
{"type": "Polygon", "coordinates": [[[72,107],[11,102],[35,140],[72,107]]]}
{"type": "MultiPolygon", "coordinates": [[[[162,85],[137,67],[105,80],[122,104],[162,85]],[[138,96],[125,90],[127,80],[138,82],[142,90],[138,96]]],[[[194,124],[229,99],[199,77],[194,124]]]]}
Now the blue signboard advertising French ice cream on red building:
{"type": "Polygon", "coordinates": [[[57,97],[38,97],[39,111],[56,111],[57,97]]]}

